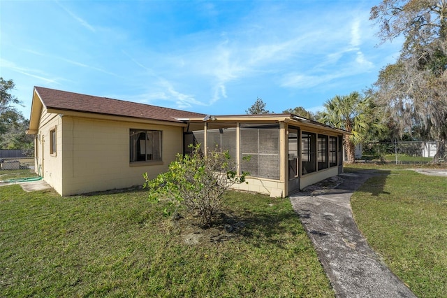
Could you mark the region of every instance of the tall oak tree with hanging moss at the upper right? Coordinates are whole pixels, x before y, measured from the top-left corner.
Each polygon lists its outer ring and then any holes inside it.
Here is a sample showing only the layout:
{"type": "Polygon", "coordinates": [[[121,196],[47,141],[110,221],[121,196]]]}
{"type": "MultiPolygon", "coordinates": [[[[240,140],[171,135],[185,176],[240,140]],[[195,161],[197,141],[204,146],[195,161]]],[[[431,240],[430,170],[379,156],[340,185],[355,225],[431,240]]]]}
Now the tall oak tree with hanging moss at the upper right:
{"type": "Polygon", "coordinates": [[[371,10],[381,42],[404,37],[400,57],[379,73],[377,103],[386,108],[402,136],[420,127],[437,139],[436,162],[447,140],[447,1],[383,0],[371,10]]]}

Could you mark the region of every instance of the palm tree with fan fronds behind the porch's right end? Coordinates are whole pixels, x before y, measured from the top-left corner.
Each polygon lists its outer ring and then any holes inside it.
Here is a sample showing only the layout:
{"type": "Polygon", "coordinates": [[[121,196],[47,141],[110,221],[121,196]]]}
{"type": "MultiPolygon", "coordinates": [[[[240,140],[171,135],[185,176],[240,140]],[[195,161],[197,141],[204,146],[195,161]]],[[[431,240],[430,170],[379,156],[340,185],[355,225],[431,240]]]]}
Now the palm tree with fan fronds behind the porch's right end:
{"type": "Polygon", "coordinates": [[[347,162],[356,162],[356,145],[365,139],[372,127],[376,132],[383,130],[377,108],[370,97],[362,97],[356,91],[349,95],[336,95],[326,101],[324,107],[319,121],[350,133],[344,136],[344,148],[347,162]]]}

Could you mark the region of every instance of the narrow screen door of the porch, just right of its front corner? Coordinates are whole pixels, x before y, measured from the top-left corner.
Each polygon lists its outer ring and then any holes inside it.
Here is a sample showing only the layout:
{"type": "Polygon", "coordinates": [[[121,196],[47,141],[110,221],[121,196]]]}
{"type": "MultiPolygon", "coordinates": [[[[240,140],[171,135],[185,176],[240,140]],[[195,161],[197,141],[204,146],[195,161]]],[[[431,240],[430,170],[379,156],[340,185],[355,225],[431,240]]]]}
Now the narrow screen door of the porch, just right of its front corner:
{"type": "Polygon", "coordinates": [[[288,192],[293,192],[300,189],[300,161],[298,159],[298,136],[300,131],[296,128],[288,128],[288,192]]]}

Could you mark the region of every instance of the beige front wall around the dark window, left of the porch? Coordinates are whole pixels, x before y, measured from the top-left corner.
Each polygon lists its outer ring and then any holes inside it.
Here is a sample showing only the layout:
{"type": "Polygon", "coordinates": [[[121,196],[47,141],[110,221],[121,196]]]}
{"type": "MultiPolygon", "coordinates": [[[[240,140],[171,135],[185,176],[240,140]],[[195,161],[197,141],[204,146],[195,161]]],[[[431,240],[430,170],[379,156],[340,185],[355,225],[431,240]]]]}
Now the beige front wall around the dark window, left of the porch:
{"type": "Polygon", "coordinates": [[[142,185],[143,173],[155,178],[182,152],[182,127],[71,116],[62,119],[62,195],[142,185]],[[129,129],[160,130],[163,162],[131,164],[129,129]]]}

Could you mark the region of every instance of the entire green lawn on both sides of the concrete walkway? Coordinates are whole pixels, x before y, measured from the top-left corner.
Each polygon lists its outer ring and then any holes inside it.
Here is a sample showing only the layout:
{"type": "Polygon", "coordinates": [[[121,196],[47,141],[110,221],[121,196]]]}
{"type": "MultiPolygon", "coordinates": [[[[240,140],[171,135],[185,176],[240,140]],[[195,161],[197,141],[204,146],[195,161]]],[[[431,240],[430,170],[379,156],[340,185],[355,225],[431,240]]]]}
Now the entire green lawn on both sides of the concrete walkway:
{"type": "MultiPolygon", "coordinates": [[[[447,297],[447,178],[389,165],[346,171],[371,168],[383,175],[353,194],[358,227],[418,297],[447,297]]],[[[334,296],[287,199],[230,192],[206,230],[163,217],[164,204],[145,190],[0,187],[0,297],[334,296]]]]}

